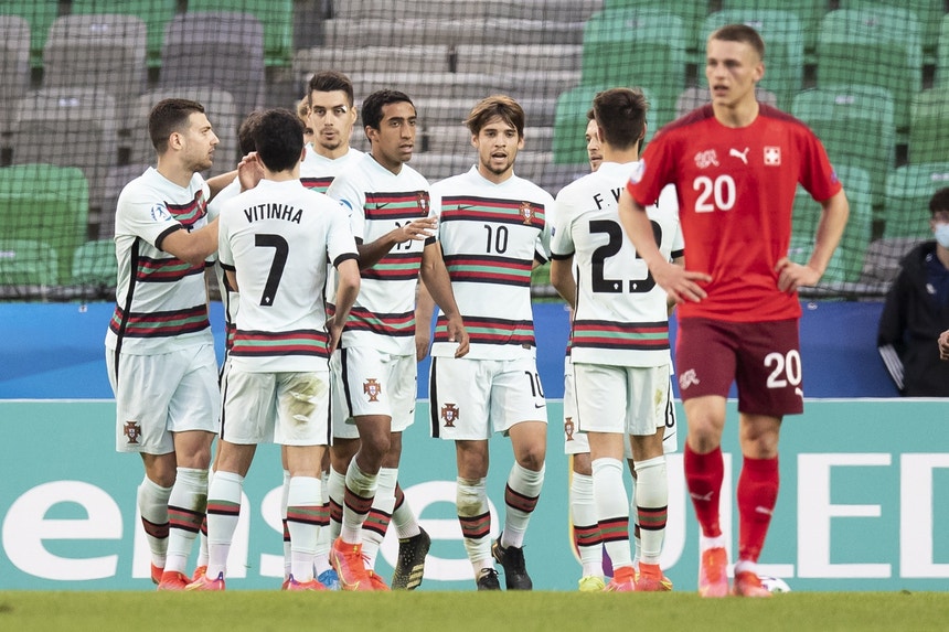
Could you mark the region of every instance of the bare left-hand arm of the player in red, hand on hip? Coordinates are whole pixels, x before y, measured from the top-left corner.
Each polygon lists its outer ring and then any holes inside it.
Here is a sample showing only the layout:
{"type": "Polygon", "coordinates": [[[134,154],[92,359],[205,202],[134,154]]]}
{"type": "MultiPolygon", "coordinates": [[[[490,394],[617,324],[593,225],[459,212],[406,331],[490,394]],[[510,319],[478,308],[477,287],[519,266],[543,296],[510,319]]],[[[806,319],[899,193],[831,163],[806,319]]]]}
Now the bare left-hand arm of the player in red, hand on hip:
{"type": "Polygon", "coordinates": [[[705,290],[699,281],[711,281],[712,277],[705,272],[685,270],[684,267],[676,266],[662,256],[655,244],[652,223],[646,214],[646,208],[632,199],[626,188],[619,195],[619,222],[629,240],[632,242],[636,254],[646,261],[652,278],[667,291],[673,302],[699,302],[705,298],[705,290]]]}

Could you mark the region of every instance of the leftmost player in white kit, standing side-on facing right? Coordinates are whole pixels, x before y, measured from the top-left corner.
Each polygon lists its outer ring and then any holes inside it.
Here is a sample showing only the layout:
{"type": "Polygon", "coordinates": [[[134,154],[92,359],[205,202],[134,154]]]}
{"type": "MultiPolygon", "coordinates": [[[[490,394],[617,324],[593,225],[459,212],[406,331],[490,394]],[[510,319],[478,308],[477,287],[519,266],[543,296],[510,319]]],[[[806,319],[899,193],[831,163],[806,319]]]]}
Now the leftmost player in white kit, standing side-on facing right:
{"type": "Polygon", "coordinates": [[[118,283],[106,333],[116,396],[116,450],[138,452],[137,502],[159,590],[181,590],[204,519],[217,429],[217,361],[207,320],[205,259],[217,249],[207,201],[234,172],[205,182],[217,136],[204,107],[164,99],[149,113],[158,163],[129,182],[116,208],[118,283]]]}

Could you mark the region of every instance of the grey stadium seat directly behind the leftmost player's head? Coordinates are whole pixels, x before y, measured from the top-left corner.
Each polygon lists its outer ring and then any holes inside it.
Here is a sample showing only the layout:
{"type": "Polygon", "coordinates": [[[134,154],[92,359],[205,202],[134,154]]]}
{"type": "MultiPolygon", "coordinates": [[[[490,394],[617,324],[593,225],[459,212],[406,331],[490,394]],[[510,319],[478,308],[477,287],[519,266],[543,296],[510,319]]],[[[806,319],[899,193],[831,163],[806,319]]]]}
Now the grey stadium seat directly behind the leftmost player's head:
{"type": "Polygon", "coordinates": [[[131,127],[129,162],[134,164],[154,164],[154,147],[148,136],[148,114],[151,108],[167,98],[185,98],[196,100],[204,106],[207,120],[220,142],[214,150],[214,162],[211,169],[203,173],[204,176],[226,173],[237,167],[241,157],[237,156],[237,128],[243,117],[238,116],[234,98],[231,93],[211,87],[183,86],[177,88],[164,88],[150,90],[138,98],[132,120],[136,125],[131,127]]]}

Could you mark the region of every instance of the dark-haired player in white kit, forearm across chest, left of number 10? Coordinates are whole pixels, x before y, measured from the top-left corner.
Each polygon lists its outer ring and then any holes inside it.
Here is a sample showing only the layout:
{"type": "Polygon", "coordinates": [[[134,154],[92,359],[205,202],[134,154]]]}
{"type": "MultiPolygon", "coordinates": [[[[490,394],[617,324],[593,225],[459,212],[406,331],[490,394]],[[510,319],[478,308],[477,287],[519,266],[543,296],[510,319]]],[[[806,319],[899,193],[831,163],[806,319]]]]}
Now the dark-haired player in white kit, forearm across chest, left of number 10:
{"type": "Polygon", "coordinates": [[[356,426],[360,447],[346,469],[342,526],[330,559],[343,589],[386,590],[372,571],[375,551],[366,550],[364,560],[362,542],[365,532],[382,540],[384,532],[367,517],[383,483],[395,489],[402,432],[415,417],[419,272],[450,314],[455,353],[467,353],[468,333],[435,238],[428,181],[406,164],[415,144],[415,106],[404,93],[378,90],[363,101],[362,117],[372,150],[327,191],[350,210],[362,269],[359,299],[332,357],[334,388],[345,405],[338,418],[356,426]]]}

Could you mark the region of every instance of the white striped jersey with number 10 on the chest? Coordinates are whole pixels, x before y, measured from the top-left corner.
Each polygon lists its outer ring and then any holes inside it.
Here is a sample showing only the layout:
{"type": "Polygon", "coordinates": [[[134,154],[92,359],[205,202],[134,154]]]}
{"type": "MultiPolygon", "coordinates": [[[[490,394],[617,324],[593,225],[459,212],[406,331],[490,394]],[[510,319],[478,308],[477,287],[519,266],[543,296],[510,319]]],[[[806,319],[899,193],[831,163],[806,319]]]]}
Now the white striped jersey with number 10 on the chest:
{"type": "MultiPolygon", "coordinates": [[[[534,356],[531,269],[550,257],[553,206],[536,184],[516,175],[494,184],[477,167],[433,184],[441,253],[471,342],[467,357],[534,356]]],[[[454,356],[457,346],[439,310],[431,355],[454,356]]]]}

